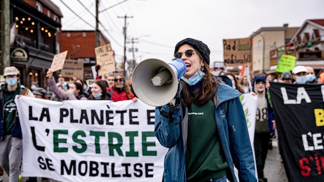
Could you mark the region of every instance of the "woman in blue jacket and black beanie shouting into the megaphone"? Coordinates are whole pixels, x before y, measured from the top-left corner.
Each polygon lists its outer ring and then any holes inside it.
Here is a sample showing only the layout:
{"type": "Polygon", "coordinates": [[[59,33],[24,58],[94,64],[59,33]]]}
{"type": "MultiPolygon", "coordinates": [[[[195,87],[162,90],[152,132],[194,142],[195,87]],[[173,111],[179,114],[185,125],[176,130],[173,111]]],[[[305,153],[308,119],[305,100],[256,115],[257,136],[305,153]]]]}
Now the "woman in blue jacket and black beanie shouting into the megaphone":
{"type": "Polygon", "coordinates": [[[208,46],[192,38],[175,47],[186,72],[175,98],[155,109],[155,136],[169,148],[163,180],[237,181],[235,164],[240,181],[257,181],[241,93],[212,75],[209,55],[208,46]]]}

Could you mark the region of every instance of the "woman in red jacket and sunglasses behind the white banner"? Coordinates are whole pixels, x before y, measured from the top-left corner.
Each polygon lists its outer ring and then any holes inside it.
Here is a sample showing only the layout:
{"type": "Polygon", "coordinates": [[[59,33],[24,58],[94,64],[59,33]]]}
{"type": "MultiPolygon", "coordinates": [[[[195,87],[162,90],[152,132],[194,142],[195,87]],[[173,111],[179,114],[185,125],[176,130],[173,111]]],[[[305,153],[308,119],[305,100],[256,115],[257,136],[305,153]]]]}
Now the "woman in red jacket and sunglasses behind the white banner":
{"type": "Polygon", "coordinates": [[[116,74],[114,82],[114,86],[107,89],[114,102],[121,100],[137,101],[137,97],[134,96],[130,86],[125,82],[125,77],[122,74],[116,74]]]}

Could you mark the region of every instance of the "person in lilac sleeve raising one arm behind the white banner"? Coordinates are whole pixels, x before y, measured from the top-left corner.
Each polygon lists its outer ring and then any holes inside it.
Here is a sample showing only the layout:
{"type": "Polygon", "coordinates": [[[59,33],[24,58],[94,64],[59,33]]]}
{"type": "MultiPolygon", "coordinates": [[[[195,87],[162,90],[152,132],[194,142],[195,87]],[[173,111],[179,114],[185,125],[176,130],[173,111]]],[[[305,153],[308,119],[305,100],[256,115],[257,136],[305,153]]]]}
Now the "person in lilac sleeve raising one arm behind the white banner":
{"type": "Polygon", "coordinates": [[[64,92],[64,90],[59,89],[55,83],[53,72],[51,68],[47,71],[47,81],[53,93],[61,98],[62,100],[87,100],[87,96],[83,93],[83,87],[80,83],[74,82],[70,85],[69,89],[64,92]]]}

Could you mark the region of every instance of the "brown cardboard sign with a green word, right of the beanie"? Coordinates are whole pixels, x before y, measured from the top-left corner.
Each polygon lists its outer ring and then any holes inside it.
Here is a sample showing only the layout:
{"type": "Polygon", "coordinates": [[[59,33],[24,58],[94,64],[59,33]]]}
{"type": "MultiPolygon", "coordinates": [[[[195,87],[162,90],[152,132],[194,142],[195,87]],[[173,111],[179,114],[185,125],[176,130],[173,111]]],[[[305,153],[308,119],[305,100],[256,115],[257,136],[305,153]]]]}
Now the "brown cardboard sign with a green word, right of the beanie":
{"type": "Polygon", "coordinates": [[[223,39],[225,66],[251,65],[250,38],[223,39]]]}

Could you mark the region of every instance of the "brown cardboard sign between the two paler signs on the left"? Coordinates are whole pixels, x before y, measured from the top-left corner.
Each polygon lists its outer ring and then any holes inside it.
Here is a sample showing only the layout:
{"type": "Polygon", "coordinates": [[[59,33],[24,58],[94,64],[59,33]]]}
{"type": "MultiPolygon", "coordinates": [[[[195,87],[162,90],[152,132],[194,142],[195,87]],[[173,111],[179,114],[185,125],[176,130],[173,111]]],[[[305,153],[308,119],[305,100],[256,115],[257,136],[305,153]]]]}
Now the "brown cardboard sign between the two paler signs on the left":
{"type": "Polygon", "coordinates": [[[78,79],[83,78],[83,61],[65,60],[64,66],[61,70],[63,77],[76,76],[78,79]]]}

